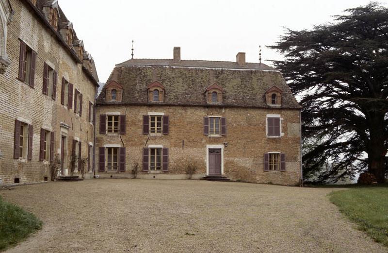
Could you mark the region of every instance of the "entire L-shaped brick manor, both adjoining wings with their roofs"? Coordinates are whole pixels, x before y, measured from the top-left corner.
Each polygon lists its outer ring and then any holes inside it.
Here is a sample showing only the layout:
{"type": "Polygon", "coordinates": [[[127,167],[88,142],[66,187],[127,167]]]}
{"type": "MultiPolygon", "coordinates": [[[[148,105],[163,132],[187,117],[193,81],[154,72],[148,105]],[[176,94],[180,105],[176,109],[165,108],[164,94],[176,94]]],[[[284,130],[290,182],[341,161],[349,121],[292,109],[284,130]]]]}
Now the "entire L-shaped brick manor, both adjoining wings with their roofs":
{"type": "Polygon", "coordinates": [[[193,178],[299,185],[300,105],[261,63],[130,59],[96,98],[91,55],[57,0],[0,0],[0,184],[193,178]],[[59,83],[58,83],[59,82],[59,83]]]}

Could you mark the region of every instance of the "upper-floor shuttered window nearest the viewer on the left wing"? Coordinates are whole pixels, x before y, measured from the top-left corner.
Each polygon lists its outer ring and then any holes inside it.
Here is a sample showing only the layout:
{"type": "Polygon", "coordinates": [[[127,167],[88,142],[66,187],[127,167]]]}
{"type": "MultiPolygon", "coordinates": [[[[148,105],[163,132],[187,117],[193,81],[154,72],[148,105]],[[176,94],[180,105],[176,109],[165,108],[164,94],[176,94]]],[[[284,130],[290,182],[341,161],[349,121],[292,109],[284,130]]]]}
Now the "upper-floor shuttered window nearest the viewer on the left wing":
{"type": "Polygon", "coordinates": [[[31,87],[34,86],[36,53],[20,41],[19,79],[31,87]]]}

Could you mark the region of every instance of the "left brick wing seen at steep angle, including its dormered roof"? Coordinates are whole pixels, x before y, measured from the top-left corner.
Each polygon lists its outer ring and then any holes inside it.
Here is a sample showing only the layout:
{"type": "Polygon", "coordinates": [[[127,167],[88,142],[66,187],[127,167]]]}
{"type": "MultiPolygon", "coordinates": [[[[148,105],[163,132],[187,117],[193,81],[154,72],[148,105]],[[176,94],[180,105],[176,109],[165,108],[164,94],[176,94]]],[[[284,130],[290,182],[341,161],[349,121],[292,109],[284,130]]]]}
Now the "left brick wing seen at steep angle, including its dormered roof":
{"type": "Polygon", "coordinates": [[[94,152],[98,77],[58,0],[0,0],[0,184],[78,175],[94,152]]]}

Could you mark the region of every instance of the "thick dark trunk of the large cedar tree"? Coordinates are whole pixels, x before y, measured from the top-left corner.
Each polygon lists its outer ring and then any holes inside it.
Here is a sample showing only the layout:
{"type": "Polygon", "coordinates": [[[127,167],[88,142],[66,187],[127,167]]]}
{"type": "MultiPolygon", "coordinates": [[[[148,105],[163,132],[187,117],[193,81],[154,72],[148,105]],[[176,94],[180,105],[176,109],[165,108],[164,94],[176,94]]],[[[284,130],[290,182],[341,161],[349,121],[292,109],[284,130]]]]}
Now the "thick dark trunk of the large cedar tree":
{"type": "Polygon", "coordinates": [[[375,175],[377,183],[384,183],[385,155],[387,148],[384,139],[384,114],[370,113],[370,143],[368,145],[369,172],[375,175]]]}

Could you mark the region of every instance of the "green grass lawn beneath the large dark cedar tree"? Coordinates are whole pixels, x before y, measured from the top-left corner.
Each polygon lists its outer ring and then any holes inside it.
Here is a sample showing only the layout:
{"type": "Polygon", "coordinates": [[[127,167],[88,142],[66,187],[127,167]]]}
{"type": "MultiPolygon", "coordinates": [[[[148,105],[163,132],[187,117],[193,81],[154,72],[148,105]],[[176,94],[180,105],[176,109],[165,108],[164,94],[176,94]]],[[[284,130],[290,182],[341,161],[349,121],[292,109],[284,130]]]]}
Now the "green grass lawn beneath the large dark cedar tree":
{"type": "Polygon", "coordinates": [[[330,194],[330,201],[375,241],[388,247],[388,186],[358,186],[330,194]]]}

